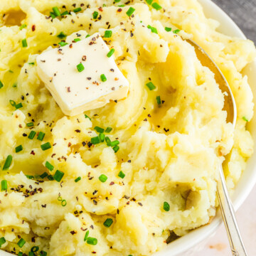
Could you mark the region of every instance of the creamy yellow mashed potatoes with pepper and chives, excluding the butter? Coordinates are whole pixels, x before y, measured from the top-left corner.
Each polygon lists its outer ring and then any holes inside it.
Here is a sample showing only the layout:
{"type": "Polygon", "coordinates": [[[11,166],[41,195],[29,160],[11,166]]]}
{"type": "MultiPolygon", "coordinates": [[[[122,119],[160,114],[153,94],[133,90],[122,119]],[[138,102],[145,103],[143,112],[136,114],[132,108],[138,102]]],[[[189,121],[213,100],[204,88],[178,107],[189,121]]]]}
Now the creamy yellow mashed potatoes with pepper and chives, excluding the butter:
{"type": "Polygon", "coordinates": [[[139,0],[0,2],[0,181],[2,188],[7,184],[0,192],[2,250],[28,255],[38,246],[36,255],[151,255],[214,217],[218,167],[225,159],[230,190],[238,182],[253,148],[245,129],[252,92],[240,72],[255,58],[255,47],[218,33],[218,22],[206,18],[197,1],[158,4],[161,9],[139,0]],[[70,15],[51,18],[55,6],[70,15]],[[36,56],[60,41],[104,36],[106,30],[112,31],[104,39],[129,80],[129,95],[67,117],[38,78],[36,56]],[[235,129],[225,122],[224,96],[213,73],[186,37],[227,78],[238,107],[235,129]],[[112,127],[105,136],[119,141],[117,152],[106,142],[90,143],[99,134],[95,127],[112,127]],[[41,149],[47,142],[50,149],[41,149]],[[11,165],[3,170],[9,155],[11,165]],[[64,174],[60,182],[53,180],[57,170],[64,174]],[[107,181],[100,181],[102,174],[107,181]],[[26,243],[19,247],[21,238],[26,243]]]}

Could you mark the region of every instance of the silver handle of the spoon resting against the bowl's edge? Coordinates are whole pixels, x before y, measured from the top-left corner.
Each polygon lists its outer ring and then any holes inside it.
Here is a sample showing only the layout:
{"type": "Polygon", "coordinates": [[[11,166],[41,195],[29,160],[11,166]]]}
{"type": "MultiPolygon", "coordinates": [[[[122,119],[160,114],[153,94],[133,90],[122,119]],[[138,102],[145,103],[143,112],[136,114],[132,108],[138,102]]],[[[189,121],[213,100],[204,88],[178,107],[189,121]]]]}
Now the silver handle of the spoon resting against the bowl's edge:
{"type": "Polygon", "coordinates": [[[228,195],[228,188],[225,183],[223,167],[220,166],[220,178],[217,183],[217,196],[220,203],[220,211],[223,216],[225,228],[228,233],[228,240],[233,256],[247,256],[245,245],[239,232],[238,223],[235,219],[235,211],[228,195]]]}

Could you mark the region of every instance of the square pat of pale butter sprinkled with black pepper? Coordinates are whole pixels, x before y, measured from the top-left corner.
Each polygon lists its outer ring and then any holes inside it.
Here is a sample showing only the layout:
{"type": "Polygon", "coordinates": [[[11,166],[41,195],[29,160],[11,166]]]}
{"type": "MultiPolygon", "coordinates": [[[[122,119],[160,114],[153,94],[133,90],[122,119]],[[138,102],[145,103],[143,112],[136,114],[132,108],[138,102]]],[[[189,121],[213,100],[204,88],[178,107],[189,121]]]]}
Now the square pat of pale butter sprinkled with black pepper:
{"type": "Polygon", "coordinates": [[[99,33],[36,58],[38,75],[64,114],[73,116],[127,97],[129,82],[99,33]],[[82,63],[84,70],[78,71],[82,63]],[[104,74],[107,80],[102,82],[104,74]]]}

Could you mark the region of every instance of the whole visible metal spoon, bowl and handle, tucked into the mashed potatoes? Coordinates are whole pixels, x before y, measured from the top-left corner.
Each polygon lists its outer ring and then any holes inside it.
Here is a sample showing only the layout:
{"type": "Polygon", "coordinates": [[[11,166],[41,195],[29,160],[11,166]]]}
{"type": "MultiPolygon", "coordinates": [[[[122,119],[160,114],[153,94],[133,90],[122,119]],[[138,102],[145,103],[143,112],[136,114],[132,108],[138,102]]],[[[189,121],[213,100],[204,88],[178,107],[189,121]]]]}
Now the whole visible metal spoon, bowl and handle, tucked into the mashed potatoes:
{"type": "MultiPolygon", "coordinates": [[[[225,92],[225,101],[223,110],[227,112],[227,122],[232,122],[235,127],[235,122],[237,119],[237,109],[235,105],[235,99],[233,97],[232,91],[228,85],[227,80],[223,73],[221,73],[218,66],[210,58],[210,56],[198,46],[197,43],[190,39],[186,39],[196,51],[198,59],[201,61],[201,64],[208,67],[215,75],[215,80],[218,83],[220,90],[225,92]]],[[[233,209],[230,196],[228,194],[228,188],[225,183],[225,176],[223,174],[223,166],[220,166],[220,178],[217,183],[217,196],[220,203],[220,211],[223,216],[223,222],[225,224],[226,231],[228,233],[228,240],[230,242],[230,247],[232,254],[234,256],[246,256],[245,245],[242,242],[240,231],[238,228],[238,223],[235,219],[235,210],[233,209]]]]}

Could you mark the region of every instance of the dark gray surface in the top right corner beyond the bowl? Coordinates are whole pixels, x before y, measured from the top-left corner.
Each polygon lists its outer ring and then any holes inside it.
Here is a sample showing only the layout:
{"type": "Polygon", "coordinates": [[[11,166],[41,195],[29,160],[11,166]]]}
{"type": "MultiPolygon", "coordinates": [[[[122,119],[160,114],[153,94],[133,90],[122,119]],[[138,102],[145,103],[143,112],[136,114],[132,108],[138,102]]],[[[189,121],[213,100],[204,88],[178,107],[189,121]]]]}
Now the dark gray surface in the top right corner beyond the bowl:
{"type": "Polygon", "coordinates": [[[256,0],[212,0],[256,44],[256,0]]]}

